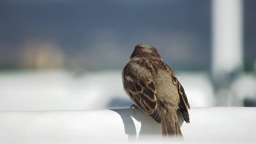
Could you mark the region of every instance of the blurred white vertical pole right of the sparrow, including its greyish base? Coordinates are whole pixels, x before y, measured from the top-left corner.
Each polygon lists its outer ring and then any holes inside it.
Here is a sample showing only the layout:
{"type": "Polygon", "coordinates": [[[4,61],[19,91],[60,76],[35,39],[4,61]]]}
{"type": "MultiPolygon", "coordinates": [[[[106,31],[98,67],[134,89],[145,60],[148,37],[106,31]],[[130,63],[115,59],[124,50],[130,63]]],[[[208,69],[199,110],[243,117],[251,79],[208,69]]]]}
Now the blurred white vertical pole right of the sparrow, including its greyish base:
{"type": "Polygon", "coordinates": [[[211,73],[217,92],[217,105],[232,105],[229,86],[243,67],[242,0],[212,0],[211,53],[211,73]]]}

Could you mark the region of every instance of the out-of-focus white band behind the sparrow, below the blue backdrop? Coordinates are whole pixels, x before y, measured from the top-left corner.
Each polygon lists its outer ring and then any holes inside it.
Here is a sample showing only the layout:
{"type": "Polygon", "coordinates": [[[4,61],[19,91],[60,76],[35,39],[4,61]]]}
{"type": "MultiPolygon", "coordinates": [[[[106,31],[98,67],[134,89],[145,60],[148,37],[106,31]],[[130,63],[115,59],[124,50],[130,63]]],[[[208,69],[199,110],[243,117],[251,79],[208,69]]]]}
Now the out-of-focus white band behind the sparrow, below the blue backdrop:
{"type": "MultiPolygon", "coordinates": [[[[206,73],[177,75],[183,77],[180,81],[191,107],[214,106],[206,73]]],[[[0,110],[116,109],[132,104],[123,88],[121,70],[78,76],[63,70],[0,73],[0,86],[0,110]]],[[[243,91],[249,87],[247,83],[243,86],[243,91]]]]}

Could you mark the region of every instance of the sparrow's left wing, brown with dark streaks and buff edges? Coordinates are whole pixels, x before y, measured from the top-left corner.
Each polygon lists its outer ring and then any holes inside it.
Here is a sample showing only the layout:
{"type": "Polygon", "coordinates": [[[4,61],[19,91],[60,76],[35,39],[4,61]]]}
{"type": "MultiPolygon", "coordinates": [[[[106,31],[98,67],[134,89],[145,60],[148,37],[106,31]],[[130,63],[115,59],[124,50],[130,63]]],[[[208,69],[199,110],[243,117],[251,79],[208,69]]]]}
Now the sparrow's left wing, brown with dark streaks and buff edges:
{"type": "MultiPolygon", "coordinates": [[[[123,81],[125,91],[139,109],[147,115],[155,112],[157,107],[156,88],[149,71],[143,67],[132,67],[132,64],[129,63],[123,69],[123,81]],[[138,71],[141,73],[138,74],[138,71]]],[[[154,116],[158,116],[156,112],[154,114],[154,116]]]]}

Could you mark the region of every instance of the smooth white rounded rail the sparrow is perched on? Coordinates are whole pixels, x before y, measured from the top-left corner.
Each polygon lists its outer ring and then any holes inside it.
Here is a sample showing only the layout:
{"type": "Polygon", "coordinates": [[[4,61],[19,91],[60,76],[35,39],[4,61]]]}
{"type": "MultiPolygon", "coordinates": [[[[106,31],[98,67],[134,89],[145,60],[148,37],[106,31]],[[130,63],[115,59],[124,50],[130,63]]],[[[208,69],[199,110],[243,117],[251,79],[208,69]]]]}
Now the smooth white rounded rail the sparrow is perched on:
{"type": "MultiPolygon", "coordinates": [[[[180,117],[186,142],[256,140],[255,107],[193,108],[189,114],[189,124],[180,117]]],[[[0,143],[127,142],[146,135],[160,140],[161,126],[137,109],[0,111],[0,143]]]]}

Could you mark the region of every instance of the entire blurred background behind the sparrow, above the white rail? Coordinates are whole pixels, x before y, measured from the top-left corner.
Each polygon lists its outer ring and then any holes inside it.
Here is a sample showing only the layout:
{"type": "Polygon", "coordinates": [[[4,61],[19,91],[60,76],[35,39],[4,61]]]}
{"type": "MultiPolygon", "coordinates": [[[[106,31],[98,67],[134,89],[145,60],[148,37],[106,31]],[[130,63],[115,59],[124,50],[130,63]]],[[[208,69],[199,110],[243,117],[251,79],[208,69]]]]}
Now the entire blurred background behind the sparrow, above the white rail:
{"type": "Polygon", "coordinates": [[[0,0],[0,110],[130,107],[121,70],[157,47],[191,107],[256,106],[256,1],[0,0]]]}

